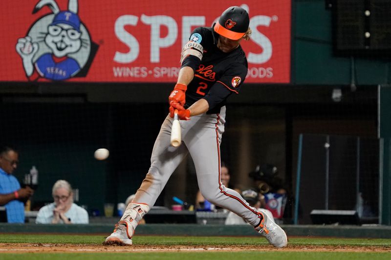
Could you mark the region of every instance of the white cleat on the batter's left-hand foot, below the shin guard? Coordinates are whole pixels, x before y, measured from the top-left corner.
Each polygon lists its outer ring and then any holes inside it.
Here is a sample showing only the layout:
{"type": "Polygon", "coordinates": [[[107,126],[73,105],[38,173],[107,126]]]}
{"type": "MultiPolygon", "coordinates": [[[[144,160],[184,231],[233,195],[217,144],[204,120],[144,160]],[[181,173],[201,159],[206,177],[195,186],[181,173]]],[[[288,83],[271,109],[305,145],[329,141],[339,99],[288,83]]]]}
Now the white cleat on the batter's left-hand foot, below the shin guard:
{"type": "Polygon", "coordinates": [[[114,231],[105,240],[105,245],[131,245],[131,237],[133,236],[134,229],[129,221],[121,220],[115,224],[114,231]]]}

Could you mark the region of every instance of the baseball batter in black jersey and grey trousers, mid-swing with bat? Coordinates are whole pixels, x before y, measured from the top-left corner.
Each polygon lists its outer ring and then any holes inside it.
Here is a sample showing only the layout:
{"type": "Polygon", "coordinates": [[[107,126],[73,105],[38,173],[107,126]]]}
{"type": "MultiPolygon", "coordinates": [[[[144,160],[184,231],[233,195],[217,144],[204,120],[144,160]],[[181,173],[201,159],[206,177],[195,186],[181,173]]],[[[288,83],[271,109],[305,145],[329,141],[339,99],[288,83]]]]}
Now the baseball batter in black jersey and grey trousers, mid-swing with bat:
{"type": "Polygon", "coordinates": [[[169,96],[170,114],[152,150],[151,167],[106,244],[132,244],[137,223],[148,213],[179,163],[190,153],[199,189],[206,200],[250,223],[269,243],[287,245],[285,232],[264,211],[251,207],[238,192],[220,181],[220,142],[225,103],[238,94],[247,74],[240,46],[251,34],[245,9],[231,6],[212,27],[198,27],[181,53],[177,83],[169,96]],[[182,143],[170,145],[174,110],[181,121],[182,143]]]}

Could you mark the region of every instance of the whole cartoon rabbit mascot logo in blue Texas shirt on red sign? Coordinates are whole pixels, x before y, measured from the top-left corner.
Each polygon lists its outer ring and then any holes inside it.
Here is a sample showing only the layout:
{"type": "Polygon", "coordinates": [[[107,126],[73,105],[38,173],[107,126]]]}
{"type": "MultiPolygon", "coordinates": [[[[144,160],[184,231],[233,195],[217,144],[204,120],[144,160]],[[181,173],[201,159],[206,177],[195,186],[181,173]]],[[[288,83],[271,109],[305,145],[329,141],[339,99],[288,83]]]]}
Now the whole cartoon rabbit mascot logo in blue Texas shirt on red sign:
{"type": "Polygon", "coordinates": [[[33,14],[45,5],[53,14],[37,20],[16,44],[27,78],[67,80],[87,76],[98,45],[91,41],[77,15],[77,0],[69,0],[66,11],[60,11],[54,0],[40,0],[33,14]]]}

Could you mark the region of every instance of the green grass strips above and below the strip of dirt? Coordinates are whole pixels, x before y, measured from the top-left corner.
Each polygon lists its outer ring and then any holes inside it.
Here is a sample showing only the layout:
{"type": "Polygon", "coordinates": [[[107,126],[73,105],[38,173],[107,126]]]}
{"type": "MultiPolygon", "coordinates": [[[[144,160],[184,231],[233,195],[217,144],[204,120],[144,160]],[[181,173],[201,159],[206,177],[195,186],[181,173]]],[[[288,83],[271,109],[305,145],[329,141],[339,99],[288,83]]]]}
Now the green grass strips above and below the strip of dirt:
{"type": "MultiPolygon", "coordinates": [[[[50,244],[80,244],[101,245],[104,235],[33,235],[33,234],[0,234],[0,243],[50,243],[50,244]]],[[[133,243],[145,246],[158,245],[197,245],[207,247],[223,247],[230,245],[259,246],[260,250],[248,251],[169,251],[169,252],[70,252],[70,253],[0,253],[1,260],[388,260],[391,255],[391,240],[389,239],[336,239],[336,238],[289,238],[289,244],[294,246],[378,246],[388,252],[306,252],[302,251],[267,251],[262,250],[262,245],[267,245],[266,240],[258,237],[169,237],[169,236],[136,236],[133,243]]],[[[121,249],[121,247],[116,247],[121,249]]]]}

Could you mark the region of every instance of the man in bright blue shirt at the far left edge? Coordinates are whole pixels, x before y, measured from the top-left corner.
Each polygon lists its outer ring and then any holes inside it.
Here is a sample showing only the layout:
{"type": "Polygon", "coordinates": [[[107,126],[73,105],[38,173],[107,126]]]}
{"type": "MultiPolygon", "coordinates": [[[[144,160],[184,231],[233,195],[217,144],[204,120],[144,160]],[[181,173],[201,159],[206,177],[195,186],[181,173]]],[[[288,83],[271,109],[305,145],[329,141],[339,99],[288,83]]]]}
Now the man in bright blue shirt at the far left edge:
{"type": "Polygon", "coordinates": [[[24,203],[34,193],[30,187],[21,188],[12,175],[18,163],[19,154],[14,148],[0,147],[0,206],[6,209],[8,223],[24,223],[24,203]]]}

